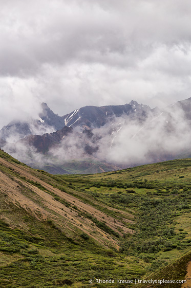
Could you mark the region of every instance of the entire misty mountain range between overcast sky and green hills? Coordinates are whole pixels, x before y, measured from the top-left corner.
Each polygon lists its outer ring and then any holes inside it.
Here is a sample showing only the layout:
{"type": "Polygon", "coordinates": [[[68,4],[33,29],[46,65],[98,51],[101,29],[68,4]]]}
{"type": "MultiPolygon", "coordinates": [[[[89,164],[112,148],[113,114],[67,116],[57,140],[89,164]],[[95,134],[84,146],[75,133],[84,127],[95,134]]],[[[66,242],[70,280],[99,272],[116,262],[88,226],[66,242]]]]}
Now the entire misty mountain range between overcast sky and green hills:
{"type": "Polygon", "coordinates": [[[41,104],[38,119],[14,120],[0,146],[55,174],[96,173],[189,156],[191,98],[163,110],[131,101],[85,106],[64,116],[41,104]]]}

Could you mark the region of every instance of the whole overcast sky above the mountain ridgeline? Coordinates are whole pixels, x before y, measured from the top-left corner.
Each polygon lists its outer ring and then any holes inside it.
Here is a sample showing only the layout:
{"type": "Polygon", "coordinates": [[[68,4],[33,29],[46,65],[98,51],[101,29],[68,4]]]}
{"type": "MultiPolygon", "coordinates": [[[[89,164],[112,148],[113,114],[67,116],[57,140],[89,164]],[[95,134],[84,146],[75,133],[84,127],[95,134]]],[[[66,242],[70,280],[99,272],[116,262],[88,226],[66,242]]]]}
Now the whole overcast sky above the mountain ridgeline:
{"type": "Polygon", "coordinates": [[[189,0],[0,0],[0,128],[84,105],[191,96],[189,0]]]}

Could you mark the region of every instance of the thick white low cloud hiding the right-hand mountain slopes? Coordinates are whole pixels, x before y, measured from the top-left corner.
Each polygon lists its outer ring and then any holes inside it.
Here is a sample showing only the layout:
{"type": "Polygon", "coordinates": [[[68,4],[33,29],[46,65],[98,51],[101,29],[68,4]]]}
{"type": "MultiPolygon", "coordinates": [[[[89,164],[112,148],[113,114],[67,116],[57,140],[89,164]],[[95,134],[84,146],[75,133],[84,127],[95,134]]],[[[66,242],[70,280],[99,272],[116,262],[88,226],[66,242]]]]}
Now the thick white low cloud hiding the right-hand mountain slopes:
{"type": "Polygon", "coordinates": [[[157,117],[148,115],[143,123],[116,118],[112,134],[105,128],[98,132],[102,138],[96,156],[125,168],[175,159],[190,151],[190,121],[178,105],[157,117]]]}

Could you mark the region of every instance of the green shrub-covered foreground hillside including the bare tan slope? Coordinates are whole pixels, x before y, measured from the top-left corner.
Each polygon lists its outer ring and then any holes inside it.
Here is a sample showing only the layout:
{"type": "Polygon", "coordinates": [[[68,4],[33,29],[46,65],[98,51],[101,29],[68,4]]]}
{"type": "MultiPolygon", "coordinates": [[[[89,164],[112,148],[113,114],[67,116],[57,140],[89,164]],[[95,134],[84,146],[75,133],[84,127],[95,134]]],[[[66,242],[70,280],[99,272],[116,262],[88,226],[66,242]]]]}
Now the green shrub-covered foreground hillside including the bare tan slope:
{"type": "Polygon", "coordinates": [[[0,171],[2,287],[103,285],[95,279],[130,287],[116,279],[186,277],[191,159],[51,175],[0,150],[0,171]]]}

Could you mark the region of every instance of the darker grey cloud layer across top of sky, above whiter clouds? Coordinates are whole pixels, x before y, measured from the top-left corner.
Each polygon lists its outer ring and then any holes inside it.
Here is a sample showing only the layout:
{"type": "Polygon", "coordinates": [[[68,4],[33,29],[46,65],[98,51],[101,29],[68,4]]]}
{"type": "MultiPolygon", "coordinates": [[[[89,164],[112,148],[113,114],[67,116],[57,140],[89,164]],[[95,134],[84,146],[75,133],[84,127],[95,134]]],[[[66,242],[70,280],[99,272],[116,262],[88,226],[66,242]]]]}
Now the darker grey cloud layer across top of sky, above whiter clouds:
{"type": "MultiPolygon", "coordinates": [[[[55,1],[47,5],[44,0],[8,4],[1,12],[3,75],[35,74],[42,64],[69,61],[112,66],[119,62],[128,67],[129,58],[135,64],[147,58],[155,43],[158,47],[190,42],[191,21],[180,10],[179,1],[175,5],[171,1],[121,1],[117,6],[114,2],[55,1]]],[[[181,5],[190,6],[187,1],[181,5]]]]}

